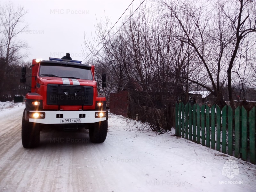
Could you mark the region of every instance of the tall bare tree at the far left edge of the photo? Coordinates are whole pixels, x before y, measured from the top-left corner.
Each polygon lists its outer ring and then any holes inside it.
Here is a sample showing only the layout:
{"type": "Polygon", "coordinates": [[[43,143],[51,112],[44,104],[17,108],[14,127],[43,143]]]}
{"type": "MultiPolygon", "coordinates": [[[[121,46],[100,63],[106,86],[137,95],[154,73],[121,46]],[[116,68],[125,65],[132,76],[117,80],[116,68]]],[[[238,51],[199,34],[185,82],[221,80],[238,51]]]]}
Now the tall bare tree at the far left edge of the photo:
{"type": "Polygon", "coordinates": [[[18,65],[20,59],[26,56],[21,50],[27,49],[27,44],[19,40],[18,35],[27,27],[23,22],[26,13],[23,7],[15,8],[10,2],[0,5],[0,76],[2,77],[0,100],[2,101],[11,100],[19,89],[18,65]]]}

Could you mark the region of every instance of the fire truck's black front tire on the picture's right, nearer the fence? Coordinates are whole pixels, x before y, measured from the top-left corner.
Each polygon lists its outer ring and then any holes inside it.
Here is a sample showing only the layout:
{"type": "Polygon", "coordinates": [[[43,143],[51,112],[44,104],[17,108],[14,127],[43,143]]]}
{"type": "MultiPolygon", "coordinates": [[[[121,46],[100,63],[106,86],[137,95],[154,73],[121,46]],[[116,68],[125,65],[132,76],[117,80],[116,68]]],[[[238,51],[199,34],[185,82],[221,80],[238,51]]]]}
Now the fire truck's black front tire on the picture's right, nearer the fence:
{"type": "Polygon", "coordinates": [[[93,123],[89,127],[89,136],[92,143],[102,143],[105,141],[108,132],[108,120],[93,123]]]}

